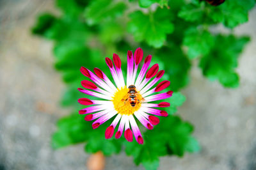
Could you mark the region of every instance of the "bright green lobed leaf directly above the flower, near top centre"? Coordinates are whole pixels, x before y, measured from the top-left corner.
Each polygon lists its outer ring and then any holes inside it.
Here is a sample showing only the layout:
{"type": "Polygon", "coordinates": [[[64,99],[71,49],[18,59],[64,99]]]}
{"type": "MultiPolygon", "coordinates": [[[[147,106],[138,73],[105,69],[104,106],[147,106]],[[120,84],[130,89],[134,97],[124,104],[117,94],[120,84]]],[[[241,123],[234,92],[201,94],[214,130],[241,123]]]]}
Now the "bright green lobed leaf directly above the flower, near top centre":
{"type": "Polygon", "coordinates": [[[170,22],[168,10],[157,9],[154,13],[144,14],[140,11],[129,15],[131,18],[127,29],[138,42],[145,41],[155,48],[162,47],[166,35],[172,33],[173,24],[170,22]]]}

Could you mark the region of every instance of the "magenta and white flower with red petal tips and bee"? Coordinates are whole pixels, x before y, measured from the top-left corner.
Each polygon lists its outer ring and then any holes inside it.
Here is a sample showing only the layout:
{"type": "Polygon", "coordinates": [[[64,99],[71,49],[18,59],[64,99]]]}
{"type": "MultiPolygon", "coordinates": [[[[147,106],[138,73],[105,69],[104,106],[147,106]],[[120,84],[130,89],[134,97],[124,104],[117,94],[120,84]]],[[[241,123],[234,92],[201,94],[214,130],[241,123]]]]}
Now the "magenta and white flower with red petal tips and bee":
{"type": "Polygon", "coordinates": [[[159,118],[156,116],[168,116],[166,111],[154,109],[154,107],[169,107],[170,103],[161,102],[159,104],[152,104],[148,102],[154,102],[171,97],[172,91],[152,95],[153,93],[168,88],[168,86],[170,86],[170,81],[162,81],[155,88],[152,88],[154,84],[161,79],[164,74],[164,70],[158,72],[158,64],[155,64],[148,69],[152,59],[151,55],[148,55],[147,58],[145,58],[143,66],[136,79],[138,66],[142,58],[143,50],[141,48],[136,49],[134,56],[132,55],[131,50],[127,52],[126,84],[119,56],[114,53],[113,62],[111,59],[106,58],[106,63],[109,66],[116,86],[99,68],[94,68],[94,73],[83,66],[80,69],[81,73],[95,82],[95,84],[91,81],[84,80],[81,84],[86,89],[78,88],[78,90],[86,95],[102,98],[104,100],[79,98],[78,102],[80,104],[93,105],[80,110],[79,114],[87,114],[84,118],[86,121],[95,120],[92,123],[93,129],[99,127],[102,123],[105,123],[115,116],[111,125],[106,129],[106,139],[113,136],[116,125],[120,122],[115,134],[116,139],[121,137],[125,128],[124,136],[127,141],[132,142],[134,135],[136,141],[139,144],[143,144],[143,137],[134,117],[136,117],[142,125],[151,130],[154,125],[159,123],[159,118]],[[151,79],[152,81],[150,81],[151,79]],[[93,91],[88,89],[92,89],[93,91]]]}

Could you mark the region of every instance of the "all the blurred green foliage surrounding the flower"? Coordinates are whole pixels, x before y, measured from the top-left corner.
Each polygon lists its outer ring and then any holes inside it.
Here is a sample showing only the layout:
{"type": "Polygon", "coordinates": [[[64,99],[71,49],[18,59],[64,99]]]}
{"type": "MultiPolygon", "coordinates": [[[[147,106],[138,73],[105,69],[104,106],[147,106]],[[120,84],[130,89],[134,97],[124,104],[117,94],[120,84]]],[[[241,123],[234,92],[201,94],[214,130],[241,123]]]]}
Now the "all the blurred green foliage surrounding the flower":
{"type": "MultiPolygon", "coordinates": [[[[153,62],[166,71],[163,78],[170,79],[173,91],[188,85],[193,60],[198,61],[202,75],[211,81],[217,80],[227,88],[239,86],[237,59],[250,38],[234,36],[232,29],[248,21],[254,4],[254,0],[226,0],[220,6],[211,6],[204,0],[56,0],[61,14],[42,13],[31,31],[54,42],[55,67],[67,83],[61,104],[77,111],[81,108],[77,98],[84,97],[77,91],[84,79],[79,68],[99,67],[109,75],[104,57],[115,52],[125,62],[127,50],[138,47],[144,54],[152,54],[153,62]],[[218,24],[227,27],[226,35],[211,31],[218,24]]],[[[175,113],[185,99],[180,93],[173,93],[171,107],[166,111],[175,113]]],[[[147,169],[156,169],[160,156],[182,156],[186,151],[199,150],[191,137],[193,127],[177,116],[161,118],[154,130],[143,130],[142,146],[123,138],[106,140],[108,124],[92,130],[91,123],[72,113],[58,121],[52,146],[85,142],[85,151],[111,155],[125,145],[127,155],[147,169]]]]}

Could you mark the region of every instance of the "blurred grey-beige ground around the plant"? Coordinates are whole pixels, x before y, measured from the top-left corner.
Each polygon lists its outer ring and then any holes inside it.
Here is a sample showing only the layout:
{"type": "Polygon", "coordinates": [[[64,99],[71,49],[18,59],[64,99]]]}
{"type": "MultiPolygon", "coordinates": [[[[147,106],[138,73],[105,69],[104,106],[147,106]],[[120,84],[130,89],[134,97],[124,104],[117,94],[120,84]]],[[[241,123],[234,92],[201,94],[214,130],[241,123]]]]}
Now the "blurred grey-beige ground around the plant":
{"type": "MultiPolygon", "coordinates": [[[[53,151],[55,122],[68,114],[58,105],[64,88],[52,67],[52,44],[31,36],[38,13],[56,13],[53,1],[0,0],[0,170],[86,169],[83,144],[53,151]]],[[[235,29],[250,35],[239,59],[241,86],[225,89],[209,82],[195,66],[179,108],[195,125],[202,151],[184,158],[163,157],[159,169],[256,169],[256,10],[235,29]]],[[[216,29],[224,31],[223,27],[216,29]]],[[[224,47],[225,48],[225,47],[224,47]]],[[[106,159],[106,169],[136,167],[124,153],[106,159]]]]}

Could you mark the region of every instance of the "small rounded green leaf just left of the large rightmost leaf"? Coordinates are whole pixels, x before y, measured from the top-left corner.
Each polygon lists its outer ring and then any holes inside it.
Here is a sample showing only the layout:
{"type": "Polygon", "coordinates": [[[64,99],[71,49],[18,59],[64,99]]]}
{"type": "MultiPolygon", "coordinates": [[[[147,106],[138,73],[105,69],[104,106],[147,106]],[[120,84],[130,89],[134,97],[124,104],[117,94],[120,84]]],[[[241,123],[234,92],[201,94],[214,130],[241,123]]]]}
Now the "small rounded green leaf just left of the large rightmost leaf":
{"type": "Polygon", "coordinates": [[[195,27],[188,29],[183,39],[183,45],[188,47],[188,57],[193,59],[207,55],[214,45],[214,36],[206,30],[195,27]]]}

